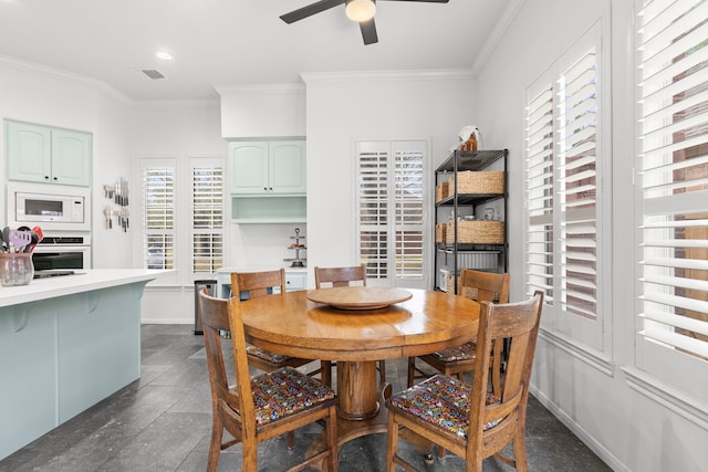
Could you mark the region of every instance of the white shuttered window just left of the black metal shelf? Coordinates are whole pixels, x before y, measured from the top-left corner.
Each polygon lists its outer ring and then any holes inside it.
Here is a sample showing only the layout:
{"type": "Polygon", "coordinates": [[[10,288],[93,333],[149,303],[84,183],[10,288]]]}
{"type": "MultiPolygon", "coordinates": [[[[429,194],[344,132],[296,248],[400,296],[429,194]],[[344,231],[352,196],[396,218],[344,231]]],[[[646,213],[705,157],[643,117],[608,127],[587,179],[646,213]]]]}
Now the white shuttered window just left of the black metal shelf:
{"type": "Polygon", "coordinates": [[[358,141],[358,253],[367,279],[424,281],[426,141],[358,141]]]}

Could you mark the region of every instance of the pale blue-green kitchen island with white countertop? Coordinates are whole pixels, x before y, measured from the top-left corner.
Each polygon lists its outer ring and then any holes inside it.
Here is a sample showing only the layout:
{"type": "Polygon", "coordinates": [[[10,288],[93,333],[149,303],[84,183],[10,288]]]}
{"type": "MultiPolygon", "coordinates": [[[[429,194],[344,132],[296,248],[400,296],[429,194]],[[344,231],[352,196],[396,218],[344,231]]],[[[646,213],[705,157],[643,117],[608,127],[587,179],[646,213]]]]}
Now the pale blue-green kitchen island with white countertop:
{"type": "Polygon", "coordinates": [[[0,460],[140,376],[140,297],[165,271],[0,287],[0,460]]]}

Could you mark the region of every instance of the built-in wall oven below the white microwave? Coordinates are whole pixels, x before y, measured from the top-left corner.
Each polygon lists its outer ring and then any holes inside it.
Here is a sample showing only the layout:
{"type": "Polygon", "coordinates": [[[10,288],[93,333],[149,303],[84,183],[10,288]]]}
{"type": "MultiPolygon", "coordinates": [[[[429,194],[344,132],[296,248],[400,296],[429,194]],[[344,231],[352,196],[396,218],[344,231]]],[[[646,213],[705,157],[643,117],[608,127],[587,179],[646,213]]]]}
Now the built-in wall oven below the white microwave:
{"type": "Polygon", "coordinates": [[[52,235],[34,247],[34,271],[91,269],[91,235],[52,235]]]}

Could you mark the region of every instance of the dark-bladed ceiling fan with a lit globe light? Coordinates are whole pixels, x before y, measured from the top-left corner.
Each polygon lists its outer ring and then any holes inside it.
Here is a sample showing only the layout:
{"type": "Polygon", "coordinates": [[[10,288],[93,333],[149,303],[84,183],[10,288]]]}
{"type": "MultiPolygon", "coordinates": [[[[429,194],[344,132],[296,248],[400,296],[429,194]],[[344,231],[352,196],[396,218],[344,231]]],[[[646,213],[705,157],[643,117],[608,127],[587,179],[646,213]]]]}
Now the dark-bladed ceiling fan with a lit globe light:
{"type": "MultiPolygon", "coordinates": [[[[449,0],[379,0],[379,1],[415,1],[425,3],[447,3],[449,0]]],[[[320,0],[306,7],[293,10],[280,17],[285,23],[290,24],[295,21],[312,17],[325,10],[340,4],[345,4],[346,17],[356,21],[362,29],[362,38],[364,44],[373,44],[378,42],[376,34],[376,24],[374,23],[374,14],[376,13],[376,0],[320,0]]]]}

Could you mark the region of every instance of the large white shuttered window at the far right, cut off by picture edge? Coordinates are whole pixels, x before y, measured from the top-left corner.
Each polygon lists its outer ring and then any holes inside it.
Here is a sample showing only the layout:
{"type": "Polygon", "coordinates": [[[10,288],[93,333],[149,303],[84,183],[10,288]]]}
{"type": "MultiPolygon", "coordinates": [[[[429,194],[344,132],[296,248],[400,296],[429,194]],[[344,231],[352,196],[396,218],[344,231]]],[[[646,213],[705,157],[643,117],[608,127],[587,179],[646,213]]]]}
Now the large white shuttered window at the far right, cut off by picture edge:
{"type": "Polygon", "coordinates": [[[708,2],[641,3],[637,365],[705,396],[708,2]]]}

